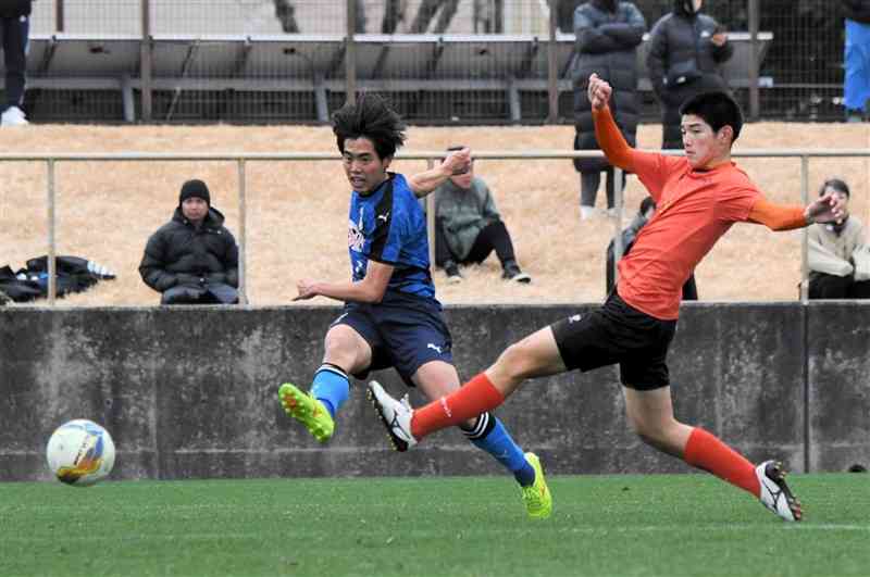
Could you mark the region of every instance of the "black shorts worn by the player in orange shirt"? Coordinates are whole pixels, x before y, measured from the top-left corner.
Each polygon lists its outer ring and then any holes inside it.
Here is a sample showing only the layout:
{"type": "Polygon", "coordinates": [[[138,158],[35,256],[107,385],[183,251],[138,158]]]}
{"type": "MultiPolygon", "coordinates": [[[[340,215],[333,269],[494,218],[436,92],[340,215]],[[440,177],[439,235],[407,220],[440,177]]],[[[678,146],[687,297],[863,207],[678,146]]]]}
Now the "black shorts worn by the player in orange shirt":
{"type": "Polygon", "coordinates": [[[551,325],[569,369],[583,372],[619,363],[620,380],[637,390],[670,385],[668,347],[676,321],[660,321],[632,309],[614,290],[604,306],[551,325]]]}

